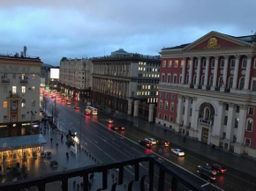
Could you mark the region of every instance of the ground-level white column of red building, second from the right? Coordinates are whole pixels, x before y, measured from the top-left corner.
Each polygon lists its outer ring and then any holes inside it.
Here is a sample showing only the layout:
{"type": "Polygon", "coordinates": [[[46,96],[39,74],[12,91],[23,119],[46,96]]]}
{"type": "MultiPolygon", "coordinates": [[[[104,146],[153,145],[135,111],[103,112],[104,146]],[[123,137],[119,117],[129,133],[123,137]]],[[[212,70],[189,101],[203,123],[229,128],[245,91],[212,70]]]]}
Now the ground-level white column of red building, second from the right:
{"type": "Polygon", "coordinates": [[[226,129],[226,142],[230,143],[233,140],[234,135],[234,124],[235,124],[235,106],[234,104],[229,104],[229,113],[228,113],[228,123],[226,129]]]}

